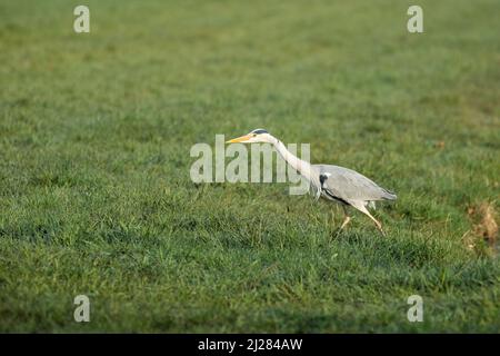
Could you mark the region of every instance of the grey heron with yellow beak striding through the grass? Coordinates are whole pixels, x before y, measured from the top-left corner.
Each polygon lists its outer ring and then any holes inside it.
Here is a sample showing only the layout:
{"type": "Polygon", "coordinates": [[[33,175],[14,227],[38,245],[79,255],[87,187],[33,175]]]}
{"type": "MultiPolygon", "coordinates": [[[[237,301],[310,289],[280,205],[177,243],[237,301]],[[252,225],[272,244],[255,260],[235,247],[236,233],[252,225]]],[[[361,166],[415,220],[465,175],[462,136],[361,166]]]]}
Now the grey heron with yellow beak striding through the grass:
{"type": "Polygon", "coordinates": [[[382,225],[368,210],[374,208],[374,202],[379,200],[396,200],[394,192],[377,185],[363,175],[344,167],[332,165],[311,165],[293,154],[279,139],[273,137],[264,129],[256,129],[244,136],[233,138],[227,144],[258,144],[266,142],[274,146],[281,157],[302,177],[309,180],[312,188],[316,189],[317,199],[324,198],[338,202],[342,206],[344,219],[340,229],[343,229],[351,217],[349,207],[367,215],[384,235],[382,225]]]}

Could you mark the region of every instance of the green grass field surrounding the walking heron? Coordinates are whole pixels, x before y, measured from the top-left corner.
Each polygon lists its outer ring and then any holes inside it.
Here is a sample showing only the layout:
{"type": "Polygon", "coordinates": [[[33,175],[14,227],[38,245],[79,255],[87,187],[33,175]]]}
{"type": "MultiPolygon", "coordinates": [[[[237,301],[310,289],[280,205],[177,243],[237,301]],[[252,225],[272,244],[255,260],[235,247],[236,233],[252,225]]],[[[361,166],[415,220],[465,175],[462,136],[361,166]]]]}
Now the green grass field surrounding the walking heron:
{"type": "Polygon", "coordinates": [[[0,0],[1,332],[500,330],[498,0],[77,4],[0,0]],[[190,180],[259,127],[396,190],[388,236],[190,180]]]}

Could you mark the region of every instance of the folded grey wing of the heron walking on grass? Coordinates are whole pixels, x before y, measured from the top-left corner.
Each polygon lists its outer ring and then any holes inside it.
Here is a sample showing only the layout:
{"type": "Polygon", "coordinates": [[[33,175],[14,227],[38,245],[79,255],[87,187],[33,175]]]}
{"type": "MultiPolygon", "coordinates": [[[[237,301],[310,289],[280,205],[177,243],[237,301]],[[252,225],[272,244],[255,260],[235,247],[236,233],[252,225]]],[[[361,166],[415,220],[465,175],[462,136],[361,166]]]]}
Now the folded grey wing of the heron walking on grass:
{"type": "Polygon", "coordinates": [[[328,176],[323,189],[347,202],[394,200],[397,196],[379,187],[374,181],[363,175],[339,166],[314,165],[320,175],[328,176]]]}

